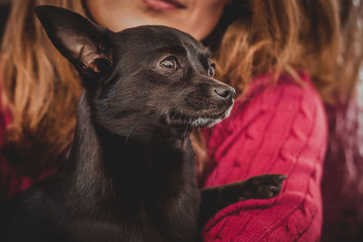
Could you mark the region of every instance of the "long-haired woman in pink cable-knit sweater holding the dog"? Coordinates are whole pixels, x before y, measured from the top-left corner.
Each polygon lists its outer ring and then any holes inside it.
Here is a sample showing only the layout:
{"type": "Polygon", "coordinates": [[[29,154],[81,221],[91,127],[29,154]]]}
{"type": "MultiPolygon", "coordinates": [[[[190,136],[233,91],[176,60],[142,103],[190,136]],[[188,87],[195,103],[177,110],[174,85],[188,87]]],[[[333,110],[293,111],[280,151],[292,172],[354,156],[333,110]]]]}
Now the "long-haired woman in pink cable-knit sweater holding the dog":
{"type": "Polygon", "coordinates": [[[346,97],[358,70],[337,71],[354,59],[339,47],[348,36],[339,33],[344,5],[335,0],[15,0],[2,45],[5,198],[62,163],[81,92],[74,69],[34,16],[34,5],[40,4],[74,10],[113,31],[164,24],[209,44],[218,78],[234,86],[239,97],[228,120],[195,134],[201,186],[263,173],[288,179],[277,198],[221,210],[204,227],[204,239],[319,240],[319,184],[328,136],[321,99],[336,98],[336,90],[346,97]],[[337,77],[349,84],[338,85],[337,77]]]}

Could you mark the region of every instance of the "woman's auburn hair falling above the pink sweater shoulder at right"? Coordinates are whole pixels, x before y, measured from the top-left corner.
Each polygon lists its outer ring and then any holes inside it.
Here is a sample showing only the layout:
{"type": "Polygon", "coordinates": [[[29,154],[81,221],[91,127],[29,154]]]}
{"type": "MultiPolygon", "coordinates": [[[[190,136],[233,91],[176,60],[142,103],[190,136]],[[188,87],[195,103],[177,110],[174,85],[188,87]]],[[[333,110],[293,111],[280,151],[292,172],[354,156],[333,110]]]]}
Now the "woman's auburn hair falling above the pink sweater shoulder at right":
{"type": "Polygon", "coordinates": [[[326,102],[347,100],[361,58],[362,32],[347,0],[247,0],[228,24],[217,52],[221,80],[240,92],[260,73],[311,76],[326,102]],[[359,44],[359,46],[357,46],[359,44]],[[358,48],[357,48],[358,47],[358,48]]]}

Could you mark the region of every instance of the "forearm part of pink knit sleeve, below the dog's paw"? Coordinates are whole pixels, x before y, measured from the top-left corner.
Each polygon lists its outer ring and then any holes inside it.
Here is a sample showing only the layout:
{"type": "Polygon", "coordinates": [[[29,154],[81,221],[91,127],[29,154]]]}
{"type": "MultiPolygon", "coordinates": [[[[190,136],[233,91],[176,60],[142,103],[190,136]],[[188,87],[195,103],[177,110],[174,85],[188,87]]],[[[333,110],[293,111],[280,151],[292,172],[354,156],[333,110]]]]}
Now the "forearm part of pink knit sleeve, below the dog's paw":
{"type": "Polygon", "coordinates": [[[250,199],[222,209],[207,223],[203,241],[318,241],[321,206],[302,193],[250,199]]]}

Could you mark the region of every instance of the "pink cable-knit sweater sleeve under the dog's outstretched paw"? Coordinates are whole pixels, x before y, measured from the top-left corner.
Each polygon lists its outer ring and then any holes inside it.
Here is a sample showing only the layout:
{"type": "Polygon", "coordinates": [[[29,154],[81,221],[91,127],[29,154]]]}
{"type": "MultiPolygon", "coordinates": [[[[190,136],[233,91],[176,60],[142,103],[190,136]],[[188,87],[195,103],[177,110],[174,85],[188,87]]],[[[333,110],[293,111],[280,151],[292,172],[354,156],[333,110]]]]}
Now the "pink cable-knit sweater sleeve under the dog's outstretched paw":
{"type": "Polygon", "coordinates": [[[204,227],[204,241],[318,241],[327,132],[323,105],[309,81],[305,87],[280,82],[237,102],[229,119],[205,131],[212,169],[204,187],[266,173],[288,179],[275,198],[222,209],[204,227]]]}

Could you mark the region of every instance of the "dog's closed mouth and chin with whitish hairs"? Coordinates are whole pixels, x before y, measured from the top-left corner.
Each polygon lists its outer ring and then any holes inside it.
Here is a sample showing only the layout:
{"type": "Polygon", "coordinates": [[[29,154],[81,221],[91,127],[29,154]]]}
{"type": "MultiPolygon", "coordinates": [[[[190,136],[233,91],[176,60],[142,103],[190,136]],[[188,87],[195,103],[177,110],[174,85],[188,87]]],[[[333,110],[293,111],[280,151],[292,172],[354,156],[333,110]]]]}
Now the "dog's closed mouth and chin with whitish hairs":
{"type": "Polygon", "coordinates": [[[168,124],[174,126],[188,126],[191,128],[211,127],[229,117],[232,107],[233,105],[219,113],[204,114],[201,116],[186,114],[179,111],[169,111],[166,121],[168,124]]]}

